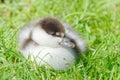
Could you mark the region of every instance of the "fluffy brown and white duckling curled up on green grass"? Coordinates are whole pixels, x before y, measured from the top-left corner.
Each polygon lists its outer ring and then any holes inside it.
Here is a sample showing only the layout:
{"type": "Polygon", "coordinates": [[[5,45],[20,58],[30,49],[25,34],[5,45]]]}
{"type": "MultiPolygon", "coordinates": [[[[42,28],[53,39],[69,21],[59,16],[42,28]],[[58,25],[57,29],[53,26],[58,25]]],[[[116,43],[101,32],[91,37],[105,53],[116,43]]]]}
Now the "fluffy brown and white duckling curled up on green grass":
{"type": "Polygon", "coordinates": [[[19,32],[19,51],[38,65],[67,70],[78,53],[86,51],[86,42],[63,21],[43,18],[25,25],[19,32]]]}

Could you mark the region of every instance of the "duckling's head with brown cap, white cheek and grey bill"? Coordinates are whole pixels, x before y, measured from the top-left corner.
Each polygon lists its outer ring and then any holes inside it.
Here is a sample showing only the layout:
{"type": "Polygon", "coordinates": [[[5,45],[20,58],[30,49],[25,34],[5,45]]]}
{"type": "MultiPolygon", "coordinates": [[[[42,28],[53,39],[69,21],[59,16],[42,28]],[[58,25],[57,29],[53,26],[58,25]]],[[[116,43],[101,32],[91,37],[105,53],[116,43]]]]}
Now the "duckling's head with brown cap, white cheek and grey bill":
{"type": "Polygon", "coordinates": [[[44,18],[36,23],[31,38],[40,46],[73,47],[75,44],[65,37],[62,23],[54,18],[44,18]]]}

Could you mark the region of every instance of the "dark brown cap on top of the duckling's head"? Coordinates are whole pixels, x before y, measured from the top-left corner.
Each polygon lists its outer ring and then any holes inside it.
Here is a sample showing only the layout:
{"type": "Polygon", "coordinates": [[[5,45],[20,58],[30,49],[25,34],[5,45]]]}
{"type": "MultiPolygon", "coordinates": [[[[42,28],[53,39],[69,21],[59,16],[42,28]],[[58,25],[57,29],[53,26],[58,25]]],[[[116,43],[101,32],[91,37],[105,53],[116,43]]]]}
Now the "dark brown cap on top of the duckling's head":
{"type": "Polygon", "coordinates": [[[61,22],[54,18],[44,18],[38,23],[48,34],[63,37],[65,30],[61,22]]]}

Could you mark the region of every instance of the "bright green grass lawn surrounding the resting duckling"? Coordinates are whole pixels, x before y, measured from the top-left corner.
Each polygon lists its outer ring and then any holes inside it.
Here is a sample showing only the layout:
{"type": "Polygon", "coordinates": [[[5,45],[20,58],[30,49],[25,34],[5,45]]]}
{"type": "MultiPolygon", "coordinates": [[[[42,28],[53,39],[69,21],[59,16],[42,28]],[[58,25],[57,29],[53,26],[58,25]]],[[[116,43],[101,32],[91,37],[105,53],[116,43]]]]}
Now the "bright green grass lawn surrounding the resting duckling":
{"type": "Polygon", "coordinates": [[[5,0],[0,3],[0,80],[120,80],[119,0],[5,0]],[[17,50],[27,22],[57,17],[88,43],[87,55],[68,71],[37,66],[17,50]]]}

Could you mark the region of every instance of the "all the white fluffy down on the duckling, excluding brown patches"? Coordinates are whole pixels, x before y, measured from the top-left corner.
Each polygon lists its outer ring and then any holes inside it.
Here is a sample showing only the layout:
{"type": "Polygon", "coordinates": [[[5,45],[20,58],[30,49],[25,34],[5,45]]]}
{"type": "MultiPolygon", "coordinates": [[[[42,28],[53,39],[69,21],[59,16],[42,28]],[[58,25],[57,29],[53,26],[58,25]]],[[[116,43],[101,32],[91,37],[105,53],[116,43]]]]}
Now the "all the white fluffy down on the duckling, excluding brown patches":
{"type": "MultiPolygon", "coordinates": [[[[75,63],[77,53],[70,47],[59,45],[62,37],[54,37],[48,35],[45,30],[37,27],[35,24],[38,21],[33,21],[26,25],[19,33],[19,51],[26,59],[31,56],[32,61],[36,61],[40,66],[51,66],[56,70],[66,70],[75,63]],[[32,34],[32,35],[31,35],[32,34]],[[32,41],[25,44],[25,40],[31,37],[32,41]],[[25,47],[22,46],[25,44],[25,47]]],[[[76,41],[81,52],[85,52],[86,43],[73,31],[67,23],[61,22],[65,28],[65,35],[76,41]]]]}

